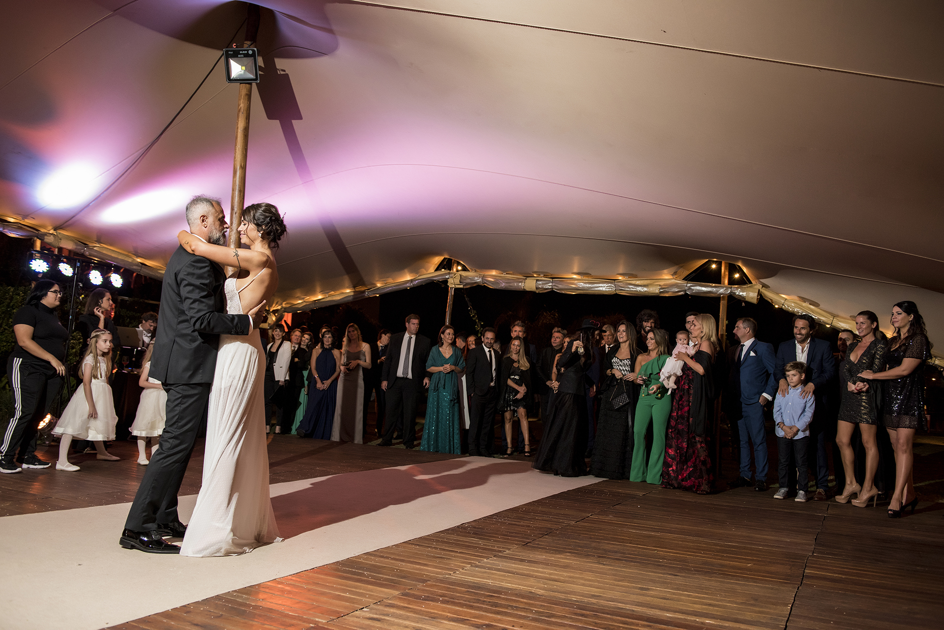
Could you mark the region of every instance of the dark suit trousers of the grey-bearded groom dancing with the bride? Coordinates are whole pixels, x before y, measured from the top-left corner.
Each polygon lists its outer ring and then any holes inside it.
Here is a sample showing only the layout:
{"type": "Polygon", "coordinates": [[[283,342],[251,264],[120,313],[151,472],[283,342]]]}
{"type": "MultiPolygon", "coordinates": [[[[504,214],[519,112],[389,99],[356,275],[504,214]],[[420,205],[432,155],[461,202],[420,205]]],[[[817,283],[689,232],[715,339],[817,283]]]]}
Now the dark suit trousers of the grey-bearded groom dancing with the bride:
{"type": "Polygon", "coordinates": [[[210,383],[163,383],[163,387],[167,420],[160,434],[160,449],[144,470],[125,521],[126,529],[134,532],[155,530],[158,523],[179,520],[177,492],[210,401],[210,383]]]}

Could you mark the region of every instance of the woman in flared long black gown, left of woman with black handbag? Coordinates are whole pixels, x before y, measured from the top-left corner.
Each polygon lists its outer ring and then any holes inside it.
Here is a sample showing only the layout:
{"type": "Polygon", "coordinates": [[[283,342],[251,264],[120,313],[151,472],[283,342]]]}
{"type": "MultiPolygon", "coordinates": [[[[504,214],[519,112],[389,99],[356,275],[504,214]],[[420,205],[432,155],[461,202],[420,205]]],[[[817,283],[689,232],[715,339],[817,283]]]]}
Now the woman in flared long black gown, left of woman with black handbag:
{"type": "Polygon", "coordinates": [[[557,395],[533,468],[562,477],[582,477],[587,473],[583,457],[589,427],[586,372],[594,362],[594,333],[598,330],[597,322],[584,319],[581,330],[564,347],[557,362],[557,395]]]}

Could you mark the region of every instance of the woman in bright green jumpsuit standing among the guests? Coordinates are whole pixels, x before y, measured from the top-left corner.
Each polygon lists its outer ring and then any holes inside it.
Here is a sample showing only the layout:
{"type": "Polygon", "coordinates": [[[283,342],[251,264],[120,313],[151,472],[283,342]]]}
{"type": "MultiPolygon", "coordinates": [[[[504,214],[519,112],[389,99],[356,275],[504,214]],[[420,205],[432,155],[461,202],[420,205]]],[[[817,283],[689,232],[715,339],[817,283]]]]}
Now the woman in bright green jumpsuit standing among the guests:
{"type": "Polygon", "coordinates": [[[672,412],[672,395],[659,381],[659,372],[668,361],[668,333],[662,329],[646,335],[646,354],[636,358],[636,383],[642,385],[636,403],[636,421],[633,426],[635,444],[632,447],[630,481],[662,484],[662,465],[666,459],[666,426],[672,412]],[[652,423],[652,451],[646,464],[646,430],[652,423]]]}

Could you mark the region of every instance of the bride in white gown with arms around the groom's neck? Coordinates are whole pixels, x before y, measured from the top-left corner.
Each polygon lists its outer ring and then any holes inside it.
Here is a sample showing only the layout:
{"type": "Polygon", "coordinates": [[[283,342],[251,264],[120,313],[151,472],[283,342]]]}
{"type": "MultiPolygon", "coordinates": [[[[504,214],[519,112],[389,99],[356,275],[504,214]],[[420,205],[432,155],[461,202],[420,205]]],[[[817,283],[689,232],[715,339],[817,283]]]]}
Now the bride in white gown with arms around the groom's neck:
{"type": "MultiPolygon", "coordinates": [[[[272,250],[285,234],[278,208],[255,203],[243,211],[240,242],[248,249],[211,245],[188,231],[177,234],[187,251],[234,267],[226,281],[227,313],[248,313],[278,288],[272,250]]],[[[260,336],[221,335],[207,414],[203,485],[180,555],[235,555],[278,542],[269,500],[265,439],[265,354],[260,336]]]]}

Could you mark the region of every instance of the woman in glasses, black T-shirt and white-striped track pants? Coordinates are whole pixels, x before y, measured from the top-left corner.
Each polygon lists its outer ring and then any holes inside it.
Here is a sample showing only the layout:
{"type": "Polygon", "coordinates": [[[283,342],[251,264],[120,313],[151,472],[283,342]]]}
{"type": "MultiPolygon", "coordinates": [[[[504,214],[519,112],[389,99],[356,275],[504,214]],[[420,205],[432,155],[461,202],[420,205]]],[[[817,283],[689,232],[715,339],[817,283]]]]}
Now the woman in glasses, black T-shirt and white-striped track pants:
{"type": "Polygon", "coordinates": [[[36,456],[36,435],[40,418],[47,413],[46,400],[53,400],[65,376],[66,344],[69,332],[56,315],[62,291],[51,280],[38,281],[26,304],[13,315],[16,343],[7,361],[7,375],[13,390],[13,417],[0,445],[0,472],[21,472],[23,468],[47,468],[36,456]]]}

